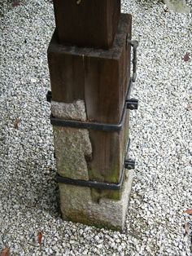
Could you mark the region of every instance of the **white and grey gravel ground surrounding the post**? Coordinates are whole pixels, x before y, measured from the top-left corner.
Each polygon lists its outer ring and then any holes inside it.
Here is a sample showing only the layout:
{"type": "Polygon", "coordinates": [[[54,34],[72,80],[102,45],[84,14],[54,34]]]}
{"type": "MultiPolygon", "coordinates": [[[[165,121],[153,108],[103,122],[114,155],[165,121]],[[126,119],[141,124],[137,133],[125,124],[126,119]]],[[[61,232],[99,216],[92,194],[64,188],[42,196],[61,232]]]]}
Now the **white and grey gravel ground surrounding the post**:
{"type": "MultiPolygon", "coordinates": [[[[188,3],[192,3],[188,1],[188,3]]],[[[191,14],[158,1],[123,1],[140,42],[131,116],[137,160],[124,232],[63,222],[55,160],[46,49],[55,22],[50,1],[0,0],[0,251],[11,255],[191,254],[191,14]],[[185,226],[185,228],[184,228],[185,226]],[[38,233],[42,232],[41,246],[38,233]]]]}

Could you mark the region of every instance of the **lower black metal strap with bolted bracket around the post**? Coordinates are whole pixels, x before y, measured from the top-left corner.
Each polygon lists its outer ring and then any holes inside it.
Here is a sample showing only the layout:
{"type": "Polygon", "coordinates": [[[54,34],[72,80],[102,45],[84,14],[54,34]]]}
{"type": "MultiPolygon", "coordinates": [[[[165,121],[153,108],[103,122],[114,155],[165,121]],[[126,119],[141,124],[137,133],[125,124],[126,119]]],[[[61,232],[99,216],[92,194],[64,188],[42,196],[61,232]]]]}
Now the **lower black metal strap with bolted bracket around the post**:
{"type": "MultiPolygon", "coordinates": [[[[130,147],[130,139],[127,144],[127,152],[129,151],[130,147]]],[[[89,187],[89,188],[96,188],[100,190],[120,190],[123,185],[124,181],[124,170],[125,169],[134,169],[133,161],[131,160],[125,160],[124,166],[120,175],[120,182],[119,183],[105,183],[105,182],[98,182],[95,180],[82,180],[82,179],[69,179],[66,177],[62,177],[61,175],[57,174],[56,179],[58,183],[65,183],[65,184],[71,184],[74,186],[80,186],[80,187],[89,187]]]]}

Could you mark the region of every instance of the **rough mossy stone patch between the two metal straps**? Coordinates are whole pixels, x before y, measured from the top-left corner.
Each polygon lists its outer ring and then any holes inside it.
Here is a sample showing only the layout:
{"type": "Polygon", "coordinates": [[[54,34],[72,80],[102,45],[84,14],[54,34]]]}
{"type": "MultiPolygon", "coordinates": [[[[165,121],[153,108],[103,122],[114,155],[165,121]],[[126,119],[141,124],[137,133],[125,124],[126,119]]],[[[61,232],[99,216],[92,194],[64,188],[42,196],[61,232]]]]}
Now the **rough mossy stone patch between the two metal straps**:
{"type": "Polygon", "coordinates": [[[57,171],[71,179],[89,179],[86,159],[92,154],[89,131],[54,126],[57,171]]]}

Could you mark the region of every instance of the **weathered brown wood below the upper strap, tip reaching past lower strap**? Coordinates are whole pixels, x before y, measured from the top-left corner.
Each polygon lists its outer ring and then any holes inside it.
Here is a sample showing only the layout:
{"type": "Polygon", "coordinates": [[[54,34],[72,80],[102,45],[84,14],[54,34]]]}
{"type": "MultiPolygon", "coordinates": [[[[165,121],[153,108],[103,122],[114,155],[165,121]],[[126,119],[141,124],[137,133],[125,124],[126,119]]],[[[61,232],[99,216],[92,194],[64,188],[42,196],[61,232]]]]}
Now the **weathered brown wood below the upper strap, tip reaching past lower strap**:
{"type": "MultiPolygon", "coordinates": [[[[129,140],[129,111],[127,111],[123,130],[105,132],[89,130],[92,143],[92,158],[88,162],[89,179],[107,183],[119,183],[126,157],[129,140]]],[[[120,199],[120,191],[91,189],[94,201],[107,197],[120,199]]]]}

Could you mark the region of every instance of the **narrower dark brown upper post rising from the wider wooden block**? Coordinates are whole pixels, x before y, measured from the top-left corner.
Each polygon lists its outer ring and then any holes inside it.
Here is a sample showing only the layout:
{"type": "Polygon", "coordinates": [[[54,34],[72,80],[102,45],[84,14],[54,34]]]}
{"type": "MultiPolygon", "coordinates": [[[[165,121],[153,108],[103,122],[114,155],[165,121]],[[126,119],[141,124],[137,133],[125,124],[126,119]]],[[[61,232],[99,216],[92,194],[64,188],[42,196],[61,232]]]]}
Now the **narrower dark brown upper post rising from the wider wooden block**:
{"type": "Polygon", "coordinates": [[[59,43],[112,46],[120,17],[120,0],[54,0],[59,43]]]}

